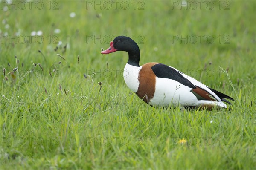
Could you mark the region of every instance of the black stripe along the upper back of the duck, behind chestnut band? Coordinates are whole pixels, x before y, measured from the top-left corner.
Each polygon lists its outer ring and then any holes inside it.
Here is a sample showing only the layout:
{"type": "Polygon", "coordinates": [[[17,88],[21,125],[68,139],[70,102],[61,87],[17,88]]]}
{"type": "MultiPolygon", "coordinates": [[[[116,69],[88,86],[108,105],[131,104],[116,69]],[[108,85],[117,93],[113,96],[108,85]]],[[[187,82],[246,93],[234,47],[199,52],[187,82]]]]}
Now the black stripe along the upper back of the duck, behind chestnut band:
{"type": "Polygon", "coordinates": [[[153,70],[154,74],[158,78],[169,78],[183,84],[184,86],[188,86],[192,89],[196,88],[195,85],[192,84],[188,79],[183,77],[183,75],[181,75],[180,72],[178,72],[174,68],[169,67],[165,64],[162,64],[162,63],[156,64],[152,66],[151,69],[153,70]]]}

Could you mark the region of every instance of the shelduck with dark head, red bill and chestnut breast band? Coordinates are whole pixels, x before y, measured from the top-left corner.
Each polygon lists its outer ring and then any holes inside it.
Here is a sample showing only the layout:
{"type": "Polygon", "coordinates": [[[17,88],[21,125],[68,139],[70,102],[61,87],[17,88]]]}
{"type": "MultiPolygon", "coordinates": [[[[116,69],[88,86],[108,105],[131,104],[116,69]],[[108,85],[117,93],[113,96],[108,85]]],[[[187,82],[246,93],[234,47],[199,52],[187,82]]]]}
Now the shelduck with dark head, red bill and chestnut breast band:
{"type": "Polygon", "coordinates": [[[228,95],[197,81],[174,67],[163,63],[145,63],[140,66],[140,49],[130,37],[118,36],[102,54],[128,52],[123,77],[132,92],[151,106],[188,108],[227,108],[235,101],[228,95]],[[225,102],[225,103],[224,103],[225,102]]]}

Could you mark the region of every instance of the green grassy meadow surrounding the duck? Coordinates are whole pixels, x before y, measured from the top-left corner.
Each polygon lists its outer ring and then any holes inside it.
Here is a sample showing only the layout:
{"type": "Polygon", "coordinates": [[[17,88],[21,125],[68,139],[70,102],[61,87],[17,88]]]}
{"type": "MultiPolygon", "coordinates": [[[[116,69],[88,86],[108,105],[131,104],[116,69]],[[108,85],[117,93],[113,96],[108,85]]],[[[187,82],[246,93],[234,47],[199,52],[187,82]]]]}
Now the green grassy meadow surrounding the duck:
{"type": "Polygon", "coordinates": [[[195,10],[174,6],[180,1],[137,1],[135,9],[134,1],[125,1],[126,10],[122,1],[109,10],[103,1],[102,10],[88,6],[95,1],[40,1],[41,10],[35,2],[31,10],[15,2],[17,9],[5,11],[1,1],[0,11],[1,169],[256,168],[255,1],[213,1],[212,10],[206,2],[195,10]],[[30,40],[39,30],[42,43],[30,40]],[[212,111],[148,106],[123,80],[127,53],[100,54],[114,35],[136,40],[141,65],[174,66],[236,102],[230,110],[212,111]],[[173,39],[186,35],[214,41],[173,39]],[[15,67],[6,81],[3,68],[7,74],[15,67]]]}

